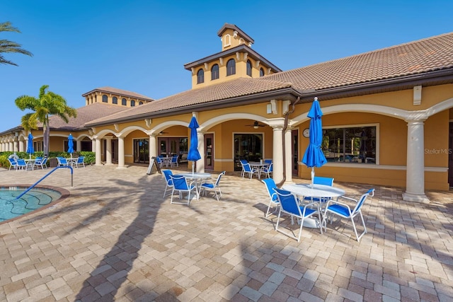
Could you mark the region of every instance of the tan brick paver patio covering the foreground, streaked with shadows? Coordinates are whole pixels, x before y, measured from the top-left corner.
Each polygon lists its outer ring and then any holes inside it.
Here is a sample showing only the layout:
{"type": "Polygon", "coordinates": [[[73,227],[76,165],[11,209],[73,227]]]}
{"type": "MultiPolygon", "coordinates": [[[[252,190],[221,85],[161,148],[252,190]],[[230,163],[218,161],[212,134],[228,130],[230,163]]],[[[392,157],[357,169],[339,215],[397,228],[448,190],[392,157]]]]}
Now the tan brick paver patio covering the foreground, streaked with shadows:
{"type": "MultiPolygon", "coordinates": [[[[360,243],[338,222],[323,235],[304,228],[297,243],[264,219],[256,179],[226,173],[219,202],[187,207],[146,171],[88,166],[74,169],[74,187],[66,169],[44,180],[71,195],[0,224],[0,301],[453,301],[452,193],[414,204],[375,187],[360,243]]],[[[0,170],[0,185],[45,173],[0,170]]]]}

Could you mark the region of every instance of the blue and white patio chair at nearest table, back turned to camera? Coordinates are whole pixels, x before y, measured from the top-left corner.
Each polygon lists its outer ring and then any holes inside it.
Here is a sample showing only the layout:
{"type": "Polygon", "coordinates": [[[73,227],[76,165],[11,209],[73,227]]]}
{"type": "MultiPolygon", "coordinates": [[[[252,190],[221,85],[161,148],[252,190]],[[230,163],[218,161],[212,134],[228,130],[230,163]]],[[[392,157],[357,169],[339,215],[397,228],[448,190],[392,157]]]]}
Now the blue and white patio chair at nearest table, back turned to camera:
{"type": "Polygon", "coordinates": [[[274,191],[277,193],[277,199],[280,202],[280,211],[278,211],[278,217],[277,217],[277,224],[275,225],[275,231],[280,232],[289,238],[296,239],[297,242],[300,241],[300,236],[302,234],[302,227],[304,226],[304,219],[313,216],[314,214],[318,214],[318,219],[319,219],[319,231],[321,234],[323,233],[323,228],[321,224],[321,215],[319,211],[319,203],[313,202],[311,204],[306,204],[305,206],[299,205],[299,201],[297,198],[292,194],[291,192],[285,191],[285,190],[280,190],[280,189],[274,189],[274,191]],[[299,227],[299,234],[296,235],[294,234],[294,231],[290,229],[290,226],[288,226],[288,229],[291,231],[285,232],[282,231],[282,229],[278,228],[280,225],[280,218],[282,216],[282,213],[288,214],[291,216],[291,225],[293,223],[293,217],[296,217],[297,219],[300,220],[300,227],[299,227]]]}

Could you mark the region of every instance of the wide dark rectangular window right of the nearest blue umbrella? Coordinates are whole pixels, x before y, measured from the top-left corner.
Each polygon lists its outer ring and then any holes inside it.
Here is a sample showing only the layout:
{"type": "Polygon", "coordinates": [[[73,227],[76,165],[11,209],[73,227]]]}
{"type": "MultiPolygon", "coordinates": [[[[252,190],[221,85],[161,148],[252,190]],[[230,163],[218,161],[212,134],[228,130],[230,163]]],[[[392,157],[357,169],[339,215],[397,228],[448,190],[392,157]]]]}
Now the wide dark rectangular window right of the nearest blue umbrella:
{"type": "Polygon", "coordinates": [[[376,126],[323,129],[328,162],[376,163],[376,126]]]}

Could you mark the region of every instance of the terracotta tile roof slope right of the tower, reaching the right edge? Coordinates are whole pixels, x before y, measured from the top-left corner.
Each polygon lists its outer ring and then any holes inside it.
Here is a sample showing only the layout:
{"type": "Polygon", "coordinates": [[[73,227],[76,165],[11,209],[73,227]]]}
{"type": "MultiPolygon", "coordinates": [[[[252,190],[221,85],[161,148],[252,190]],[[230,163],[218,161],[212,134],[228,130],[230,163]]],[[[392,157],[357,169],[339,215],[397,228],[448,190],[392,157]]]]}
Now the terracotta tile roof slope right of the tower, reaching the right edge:
{"type": "Polygon", "coordinates": [[[453,68],[453,33],[314,64],[265,79],[316,90],[453,68]]]}

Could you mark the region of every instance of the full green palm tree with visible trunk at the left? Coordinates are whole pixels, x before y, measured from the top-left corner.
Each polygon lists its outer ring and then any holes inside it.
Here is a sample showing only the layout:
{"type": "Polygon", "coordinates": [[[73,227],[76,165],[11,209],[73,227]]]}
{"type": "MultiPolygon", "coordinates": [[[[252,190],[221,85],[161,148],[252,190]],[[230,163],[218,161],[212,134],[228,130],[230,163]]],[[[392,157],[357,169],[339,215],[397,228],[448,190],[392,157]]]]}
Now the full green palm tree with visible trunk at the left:
{"type": "Polygon", "coordinates": [[[66,100],[61,95],[57,95],[52,91],[46,91],[47,88],[49,88],[48,85],[44,85],[40,88],[40,95],[38,98],[21,95],[15,100],[16,106],[20,110],[29,109],[33,111],[22,117],[21,123],[23,129],[26,131],[38,129],[38,122],[42,123],[45,156],[49,155],[50,115],[58,115],[66,123],[69,122],[69,117],[77,116],[76,109],[69,107],[66,100]]]}

